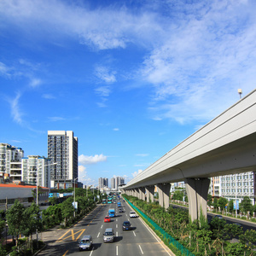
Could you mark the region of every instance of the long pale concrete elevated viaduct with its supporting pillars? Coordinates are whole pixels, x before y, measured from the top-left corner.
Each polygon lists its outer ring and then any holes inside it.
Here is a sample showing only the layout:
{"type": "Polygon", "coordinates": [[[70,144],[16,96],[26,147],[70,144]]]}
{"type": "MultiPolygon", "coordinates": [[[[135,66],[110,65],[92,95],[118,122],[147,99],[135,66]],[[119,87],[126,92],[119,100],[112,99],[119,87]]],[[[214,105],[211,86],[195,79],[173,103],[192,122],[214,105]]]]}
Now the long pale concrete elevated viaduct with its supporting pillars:
{"type": "Polygon", "coordinates": [[[256,90],[212,119],[122,187],[147,201],[159,190],[160,206],[169,207],[170,183],[184,181],[192,221],[207,217],[210,177],[256,171],[256,90]]]}

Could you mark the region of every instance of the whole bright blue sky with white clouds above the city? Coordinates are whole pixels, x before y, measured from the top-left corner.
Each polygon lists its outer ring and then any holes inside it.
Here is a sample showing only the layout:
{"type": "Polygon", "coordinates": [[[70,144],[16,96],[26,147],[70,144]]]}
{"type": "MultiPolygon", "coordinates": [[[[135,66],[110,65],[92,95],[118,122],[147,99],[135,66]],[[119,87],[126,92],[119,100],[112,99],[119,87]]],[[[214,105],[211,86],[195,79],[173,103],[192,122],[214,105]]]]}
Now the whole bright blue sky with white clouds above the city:
{"type": "Polygon", "coordinates": [[[247,95],[256,2],[0,1],[0,143],[79,137],[79,181],[128,182],[247,95]]]}

